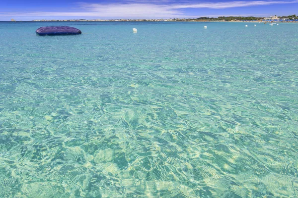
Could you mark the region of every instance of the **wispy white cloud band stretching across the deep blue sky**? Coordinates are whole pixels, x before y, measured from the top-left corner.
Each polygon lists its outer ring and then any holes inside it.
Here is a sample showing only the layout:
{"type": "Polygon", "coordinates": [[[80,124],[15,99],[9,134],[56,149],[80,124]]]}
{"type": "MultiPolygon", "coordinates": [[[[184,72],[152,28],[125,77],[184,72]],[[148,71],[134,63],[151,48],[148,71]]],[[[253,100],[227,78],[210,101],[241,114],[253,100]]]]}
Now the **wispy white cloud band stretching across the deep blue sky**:
{"type": "Polygon", "coordinates": [[[75,12],[55,12],[55,11],[38,11],[31,12],[0,12],[1,17],[7,16],[27,16],[27,17],[94,17],[94,18],[182,18],[191,17],[187,14],[187,9],[225,9],[233,7],[248,7],[274,4],[298,3],[298,0],[258,0],[258,1],[226,1],[226,2],[202,2],[194,3],[190,1],[137,1],[130,0],[121,3],[78,3],[75,12]]]}

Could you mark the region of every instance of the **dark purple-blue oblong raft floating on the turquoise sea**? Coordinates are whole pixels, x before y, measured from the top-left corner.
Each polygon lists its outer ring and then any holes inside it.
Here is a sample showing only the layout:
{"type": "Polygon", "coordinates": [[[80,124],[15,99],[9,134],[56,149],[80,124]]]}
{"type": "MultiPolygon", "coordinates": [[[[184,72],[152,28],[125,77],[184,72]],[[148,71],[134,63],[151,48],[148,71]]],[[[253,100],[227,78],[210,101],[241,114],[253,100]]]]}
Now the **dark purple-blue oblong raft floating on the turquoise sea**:
{"type": "Polygon", "coordinates": [[[46,26],[40,27],[36,31],[36,34],[41,36],[46,35],[73,35],[81,34],[82,32],[79,29],[69,26],[46,26]]]}

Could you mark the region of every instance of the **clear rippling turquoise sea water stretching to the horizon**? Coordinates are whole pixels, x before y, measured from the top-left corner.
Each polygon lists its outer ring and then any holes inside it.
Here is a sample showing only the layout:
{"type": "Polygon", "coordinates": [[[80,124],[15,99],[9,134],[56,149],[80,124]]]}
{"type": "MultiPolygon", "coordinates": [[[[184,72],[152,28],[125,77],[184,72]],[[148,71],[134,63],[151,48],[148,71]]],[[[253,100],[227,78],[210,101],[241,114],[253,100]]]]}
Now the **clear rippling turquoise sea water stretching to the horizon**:
{"type": "Polygon", "coordinates": [[[0,22],[0,197],[298,197],[298,24],[256,24],[0,22]]]}

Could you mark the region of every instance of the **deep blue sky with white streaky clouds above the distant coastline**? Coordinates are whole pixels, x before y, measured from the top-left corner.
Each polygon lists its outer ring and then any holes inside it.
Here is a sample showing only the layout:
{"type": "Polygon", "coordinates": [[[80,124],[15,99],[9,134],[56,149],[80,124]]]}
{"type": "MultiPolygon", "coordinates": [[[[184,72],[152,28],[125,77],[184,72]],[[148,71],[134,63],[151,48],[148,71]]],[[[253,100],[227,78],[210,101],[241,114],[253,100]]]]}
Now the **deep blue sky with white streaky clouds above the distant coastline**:
{"type": "Polygon", "coordinates": [[[0,0],[0,21],[298,15],[298,0],[0,0]]]}

